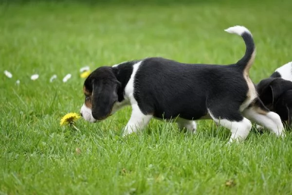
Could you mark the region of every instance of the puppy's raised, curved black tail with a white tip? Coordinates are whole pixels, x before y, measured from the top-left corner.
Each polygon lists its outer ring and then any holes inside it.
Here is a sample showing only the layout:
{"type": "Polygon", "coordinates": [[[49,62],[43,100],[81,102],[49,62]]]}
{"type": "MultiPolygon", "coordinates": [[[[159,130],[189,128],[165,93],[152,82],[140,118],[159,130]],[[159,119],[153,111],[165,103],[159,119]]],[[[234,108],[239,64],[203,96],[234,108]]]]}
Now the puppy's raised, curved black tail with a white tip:
{"type": "Polygon", "coordinates": [[[256,57],[256,47],[251,32],[244,26],[233,26],[225,30],[228,33],[240,35],[245,43],[246,50],[244,56],[236,63],[238,67],[249,71],[256,57]]]}

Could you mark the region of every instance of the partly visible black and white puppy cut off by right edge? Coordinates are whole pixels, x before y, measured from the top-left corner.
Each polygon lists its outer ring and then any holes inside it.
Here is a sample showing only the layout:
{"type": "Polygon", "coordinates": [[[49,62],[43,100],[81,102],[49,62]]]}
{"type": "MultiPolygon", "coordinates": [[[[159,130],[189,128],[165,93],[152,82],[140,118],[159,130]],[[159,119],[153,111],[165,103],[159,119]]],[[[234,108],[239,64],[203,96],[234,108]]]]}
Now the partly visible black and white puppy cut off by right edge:
{"type": "Polygon", "coordinates": [[[270,78],[261,80],[257,86],[260,100],[276,112],[284,124],[292,125],[292,62],[276,69],[270,78]]]}

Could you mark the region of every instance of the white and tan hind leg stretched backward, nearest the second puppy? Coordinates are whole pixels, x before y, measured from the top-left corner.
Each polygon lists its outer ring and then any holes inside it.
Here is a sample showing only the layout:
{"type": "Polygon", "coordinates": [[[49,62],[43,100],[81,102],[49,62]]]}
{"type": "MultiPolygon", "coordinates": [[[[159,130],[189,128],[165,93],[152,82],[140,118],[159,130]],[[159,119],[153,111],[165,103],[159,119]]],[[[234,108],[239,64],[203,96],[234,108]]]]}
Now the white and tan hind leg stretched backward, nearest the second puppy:
{"type": "Polygon", "coordinates": [[[285,136],[280,116],[275,112],[269,111],[260,99],[257,98],[251,106],[243,110],[242,114],[251,121],[270,129],[276,136],[285,136]]]}

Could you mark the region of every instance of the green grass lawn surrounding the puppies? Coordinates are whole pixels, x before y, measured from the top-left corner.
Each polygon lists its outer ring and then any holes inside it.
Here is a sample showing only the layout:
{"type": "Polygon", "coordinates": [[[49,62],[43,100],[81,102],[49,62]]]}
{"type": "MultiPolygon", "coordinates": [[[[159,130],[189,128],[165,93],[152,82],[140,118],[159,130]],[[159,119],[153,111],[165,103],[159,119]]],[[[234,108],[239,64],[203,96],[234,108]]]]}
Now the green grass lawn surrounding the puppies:
{"type": "Polygon", "coordinates": [[[237,24],[255,38],[254,82],[292,60],[290,0],[129,2],[0,5],[0,194],[292,194],[290,132],[277,139],[253,131],[227,145],[229,131],[211,121],[188,135],[152,120],[144,132],[121,138],[130,108],[99,124],[79,120],[80,132],[59,126],[83,104],[85,65],[94,70],[148,56],[234,63],[244,43],[223,30],[237,24]],[[34,73],[40,77],[31,81],[34,73]],[[72,78],[62,83],[67,73],[72,78]],[[58,79],[50,83],[53,74],[58,79]]]}

